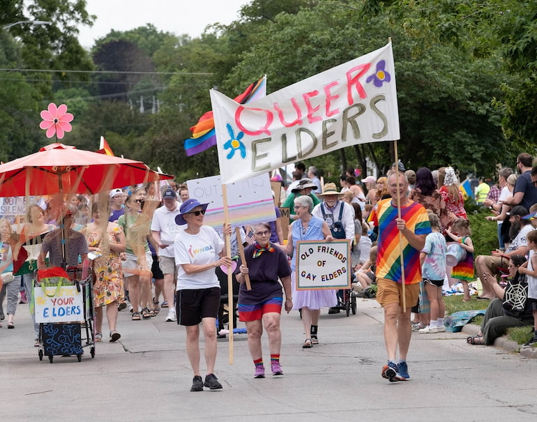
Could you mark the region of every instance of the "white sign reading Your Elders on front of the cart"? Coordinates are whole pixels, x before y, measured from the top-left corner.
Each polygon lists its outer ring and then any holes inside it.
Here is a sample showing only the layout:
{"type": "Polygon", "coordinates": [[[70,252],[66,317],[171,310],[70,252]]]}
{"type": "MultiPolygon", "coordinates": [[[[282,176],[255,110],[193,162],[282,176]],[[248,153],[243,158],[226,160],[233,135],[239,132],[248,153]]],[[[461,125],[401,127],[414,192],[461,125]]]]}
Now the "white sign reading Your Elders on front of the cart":
{"type": "Polygon", "coordinates": [[[56,287],[34,287],[36,322],[75,322],[84,320],[82,292],[75,286],[62,286],[53,297],[56,287]]]}

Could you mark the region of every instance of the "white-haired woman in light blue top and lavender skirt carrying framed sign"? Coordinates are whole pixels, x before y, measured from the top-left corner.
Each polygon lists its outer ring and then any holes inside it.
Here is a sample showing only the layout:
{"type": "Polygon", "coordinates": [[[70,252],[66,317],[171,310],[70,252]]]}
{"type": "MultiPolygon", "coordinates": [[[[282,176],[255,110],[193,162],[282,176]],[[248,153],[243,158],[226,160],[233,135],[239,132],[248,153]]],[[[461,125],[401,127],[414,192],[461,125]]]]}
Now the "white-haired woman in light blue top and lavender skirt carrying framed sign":
{"type": "MultiPolygon", "coordinates": [[[[322,218],[312,216],[313,201],[308,195],[301,195],[294,199],[296,220],[291,225],[287,237],[287,245],[280,246],[287,255],[296,256],[296,242],[303,240],[333,241],[330,227],[322,218]]],[[[328,290],[297,290],[296,289],[296,260],[291,262],[291,280],[293,310],[301,310],[304,325],[304,349],[310,349],[318,344],[317,325],[321,308],[332,308],[338,301],[335,298],[335,289],[328,290]]]]}

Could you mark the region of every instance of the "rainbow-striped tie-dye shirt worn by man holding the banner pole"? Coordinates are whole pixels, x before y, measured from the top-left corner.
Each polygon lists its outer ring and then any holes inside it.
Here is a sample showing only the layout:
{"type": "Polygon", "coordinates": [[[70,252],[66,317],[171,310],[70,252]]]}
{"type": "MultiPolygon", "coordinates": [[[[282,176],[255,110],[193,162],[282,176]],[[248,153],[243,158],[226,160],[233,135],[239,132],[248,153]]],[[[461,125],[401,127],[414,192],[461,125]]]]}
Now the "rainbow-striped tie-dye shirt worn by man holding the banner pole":
{"type": "MultiPolygon", "coordinates": [[[[399,236],[396,219],[398,211],[392,199],[383,199],[372,209],[368,221],[379,228],[377,250],[377,278],[401,282],[401,249],[404,261],[404,284],[421,281],[420,251],[410,246],[403,235],[399,236]]],[[[401,206],[401,218],[414,234],[429,234],[431,225],[425,207],[417,202],[401,206]]]]}

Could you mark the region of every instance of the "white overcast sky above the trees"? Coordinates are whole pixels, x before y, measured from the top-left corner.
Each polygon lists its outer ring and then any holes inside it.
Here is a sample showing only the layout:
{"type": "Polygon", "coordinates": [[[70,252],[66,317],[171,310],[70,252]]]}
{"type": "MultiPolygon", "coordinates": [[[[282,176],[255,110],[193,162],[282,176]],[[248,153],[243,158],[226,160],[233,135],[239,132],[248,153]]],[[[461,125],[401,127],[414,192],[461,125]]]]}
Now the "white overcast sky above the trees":
{"type": "Polygon", "coordinates": [[[80,27],[79,40],[90,48],[109,31],[128,31],[153,24],[158,31],[199,37],[209,24],[229,24],[241,6],[251,0],[86,0],[86,10],[97,19],[93,27],[80,27]]]}

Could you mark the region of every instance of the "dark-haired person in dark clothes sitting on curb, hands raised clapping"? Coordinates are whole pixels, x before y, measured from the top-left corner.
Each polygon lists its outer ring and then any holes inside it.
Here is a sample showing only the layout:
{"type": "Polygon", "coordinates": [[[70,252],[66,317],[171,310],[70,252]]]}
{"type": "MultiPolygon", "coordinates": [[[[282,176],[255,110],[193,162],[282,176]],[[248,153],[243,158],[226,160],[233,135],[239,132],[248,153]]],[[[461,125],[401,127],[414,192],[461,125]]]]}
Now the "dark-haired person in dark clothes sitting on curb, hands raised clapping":
{"type": "MultiPolygon", "coordinates": [[[[519,269],[522,264],[526,262],[524,255],[513,255],[509,259],[509,278],[515,278],[519,276],[519,269]]],[[[499,299],[492,299],[485,310],[485,317],[481,323],[481,330],[479,330],[477,336],[469,336],[466,341],[469,345],[493,345],[494,340],[498,337],[504,336],[507,329],[512,326],[524,326],[534,322],[531,310],[528,312],[528,306],[522,317],[515,317],[515,315],[506,311],[502,306],[504,301],[504,289],[498,284],[496,277],[491,273],[485,273],[483,281],[487,283],[490,289],[494,292],[499,299]]]]}

